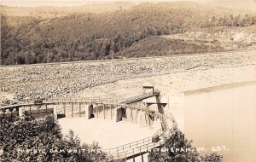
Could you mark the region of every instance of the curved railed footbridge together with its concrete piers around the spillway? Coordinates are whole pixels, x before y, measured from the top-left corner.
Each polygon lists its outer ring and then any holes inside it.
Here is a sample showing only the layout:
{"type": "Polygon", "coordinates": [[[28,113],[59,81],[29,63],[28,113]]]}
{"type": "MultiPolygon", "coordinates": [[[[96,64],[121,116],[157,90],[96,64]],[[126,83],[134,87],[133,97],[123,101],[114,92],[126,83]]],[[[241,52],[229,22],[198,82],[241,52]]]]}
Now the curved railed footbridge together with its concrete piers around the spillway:
{"type": "Polygon", "coordinates": [[[160,123],[160,128],[153,136],[149,136],[137,142],[127,143],[117,148],[102,150],[113,159],[128,160],[148,153],[153,148],[160,148],[166,138],[172,136],[177,129],[177,123],[172,113],[160,113],[146,107],[132,107],[111,99],[99,98],[51,98],[37,103],[34,101],[18,103],[0,107],[3,118],[13,119],[15,115],[22,118],[25,114],[35,119],[44,118],[53,114],[55,119],[60,118],[99,118],[113,119],[115,122],[125,120],[140,127],[153,127],[160,123]]]}

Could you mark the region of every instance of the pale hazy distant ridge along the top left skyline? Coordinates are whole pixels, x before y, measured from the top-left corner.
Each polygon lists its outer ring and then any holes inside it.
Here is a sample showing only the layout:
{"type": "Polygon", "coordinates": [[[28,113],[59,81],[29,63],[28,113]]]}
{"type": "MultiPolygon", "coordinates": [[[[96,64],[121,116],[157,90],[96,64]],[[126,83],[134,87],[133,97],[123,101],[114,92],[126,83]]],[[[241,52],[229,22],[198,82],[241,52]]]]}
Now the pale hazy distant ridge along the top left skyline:
{"type": "MultiPolygon", "coordinates": [[[[14,2],[14,3],[17,3],[17,2],[14,2]]],[[[22,4],[22,2],[20,3],[22,4]]],[[[26,3],[26,2],[23,2],[23,3],[26,3]]],[[[31,4],[32,3],[40,4],[40,2],[38,3],[31,2],[31,4]]],[[[120,9],[129,9],[131,6],[134,5],[133,3],[129,3],[129,2],[116,2],[116,3],[73,2],[73,5],[70,6],[70,4],[68,3],[70,2],[67,2],[67,3],[62,2],[61,6],[49,6],[49,5],[45,6],[45,2],[42,2],[41,5],[37,5],[35,7],[25,7],[22,5],[19,7],[17,7],[16,5],[13,5],[13,6],[3,5],[1,8],[3,9],[2,12],[4,14],[9,14],[12,16],[32,16],[32,17],[40,17],[44,19],[44,18],[49,18],[50,16],[56,17],[61,14],[67,15],[67,14],[83,14],[83,13],[103,13],[107,11],[110,12],[110,11],[115,11],[120,9]]]]}

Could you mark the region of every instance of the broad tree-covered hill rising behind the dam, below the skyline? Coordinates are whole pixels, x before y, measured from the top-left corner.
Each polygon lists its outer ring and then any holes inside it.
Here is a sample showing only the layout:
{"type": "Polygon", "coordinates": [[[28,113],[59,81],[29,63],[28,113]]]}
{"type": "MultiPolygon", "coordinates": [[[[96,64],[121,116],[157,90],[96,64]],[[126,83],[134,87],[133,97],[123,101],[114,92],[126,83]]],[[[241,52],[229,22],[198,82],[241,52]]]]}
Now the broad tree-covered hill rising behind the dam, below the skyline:
{"type": "MultiPolygon", "coordinates": [[[[106,59],[118,57],[135,43],[140,46],[140,41],[154,38],[151,36],[183,33],[201,27],[255,24],[255,14],[197,3],[142,3],[100,14],[76,12],[48,19],[2,14],[1,63],[106,59]]],[[[168,48],[170,43],[166,43],[168,48]]],[[[143,47],[140,50],[143,51],[143,47]]],[[[191,53],[196,50],[192,49],[191,53]]],[[[132,56],[143,55],[137,52],[132,56]]],[[[129,57],[129,53],[125,56],[129,57]]]]}

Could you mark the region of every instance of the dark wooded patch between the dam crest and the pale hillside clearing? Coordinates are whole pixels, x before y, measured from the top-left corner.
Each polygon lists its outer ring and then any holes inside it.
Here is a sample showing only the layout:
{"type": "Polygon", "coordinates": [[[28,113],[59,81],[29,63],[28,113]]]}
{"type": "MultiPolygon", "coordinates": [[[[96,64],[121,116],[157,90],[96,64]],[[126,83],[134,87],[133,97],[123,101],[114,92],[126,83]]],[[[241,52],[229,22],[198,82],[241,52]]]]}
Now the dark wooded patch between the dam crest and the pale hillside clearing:
{"type": "Polygon", "coordinates": [[[201,42],[152,36],[133,43],[131,47],[119,51],[118,54],[121,57],[148,57],[224,51],[224,48],[217,41],[210,43],[201,42]]]}

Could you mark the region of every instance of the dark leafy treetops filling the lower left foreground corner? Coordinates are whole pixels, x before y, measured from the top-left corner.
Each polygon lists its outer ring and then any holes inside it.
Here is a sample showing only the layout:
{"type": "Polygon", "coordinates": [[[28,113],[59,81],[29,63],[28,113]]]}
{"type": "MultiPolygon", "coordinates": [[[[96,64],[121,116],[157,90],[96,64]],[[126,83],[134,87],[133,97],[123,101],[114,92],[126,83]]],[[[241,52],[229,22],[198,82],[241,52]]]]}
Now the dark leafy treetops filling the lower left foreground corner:
{"type": "Polygon", "coordinates": [[[0,161],[112,161],[97,143],[81,144],[73,130],[62,136],[60,125],[48,116],[13,121],[0,115],[0,161]]]}

